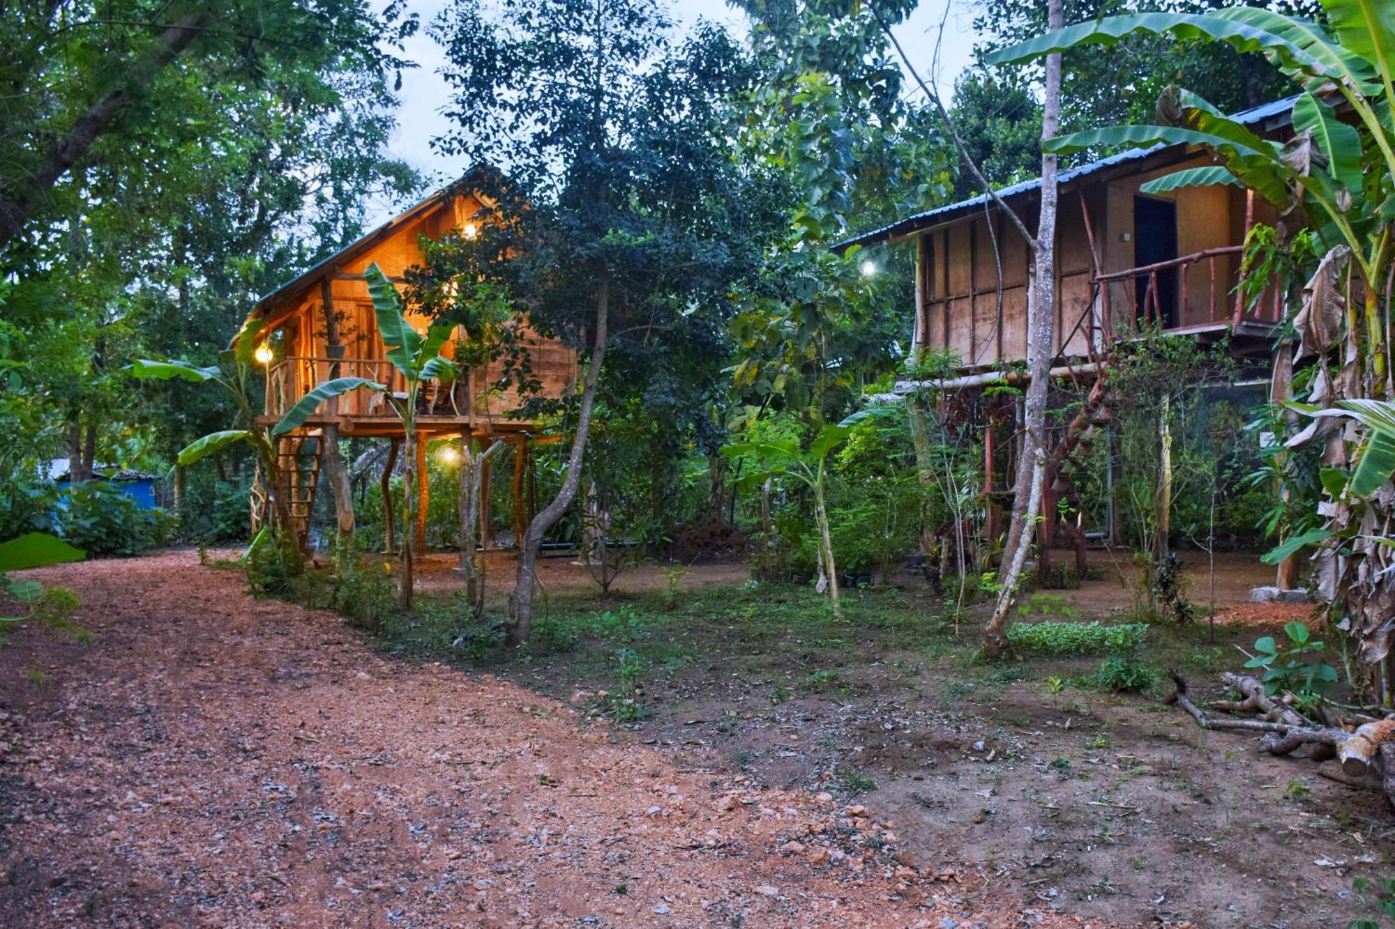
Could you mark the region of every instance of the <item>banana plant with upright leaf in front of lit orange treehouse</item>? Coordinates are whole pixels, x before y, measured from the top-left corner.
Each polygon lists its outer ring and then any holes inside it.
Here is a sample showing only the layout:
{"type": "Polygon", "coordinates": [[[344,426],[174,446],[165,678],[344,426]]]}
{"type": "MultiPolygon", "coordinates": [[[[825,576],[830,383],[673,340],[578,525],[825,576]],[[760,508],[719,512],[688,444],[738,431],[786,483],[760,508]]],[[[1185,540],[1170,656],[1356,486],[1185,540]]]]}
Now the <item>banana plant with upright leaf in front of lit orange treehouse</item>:
{"type": "Polygon", "coordinates": [[[456,367],[449,358],[441,356],[441,347],[451,338],[452,325],[430,326],[425,335],[417,332],[402,312],[402,297],[392,286],[388,276],[377,262],[368,265],[364,278],[368,282],[368,294],[372,297],[372,311],[378,322],[378,333],[388,349],[388,360],[402,375],[405,391],[395,392],[385,384],[367,378],[333,378],[325,381],[314,391],[296,402],[286,416],[271,430],[271,438],[294,432],[306,424],[306,420],[319,407],[321,403],[352,391],[372,391],[382,395],[388,407],[402,420],[403,458],[406,470],[402,481],[402,576],[398,590],[398,603],[403,610],[412,608],[413,594],[413,512],[416,498],[413,488],[418,480],[425,480],[425,474],[417,474],[416,444],[424,441],[417,437],[417,398],[427,381],[449,384],[455,379],[456,367]]]}

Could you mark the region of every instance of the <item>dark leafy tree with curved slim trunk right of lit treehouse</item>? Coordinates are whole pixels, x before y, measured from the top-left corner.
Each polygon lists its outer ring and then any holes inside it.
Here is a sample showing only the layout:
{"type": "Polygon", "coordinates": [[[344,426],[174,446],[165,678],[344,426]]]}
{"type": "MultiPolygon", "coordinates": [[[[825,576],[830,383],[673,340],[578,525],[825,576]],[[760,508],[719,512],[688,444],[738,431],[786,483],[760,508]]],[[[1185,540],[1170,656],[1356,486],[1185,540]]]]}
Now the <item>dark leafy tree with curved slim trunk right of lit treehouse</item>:
{"type": "Polygon", "coordinates": [[[505,0],[492,17],[460,0],[432,25],[456,121],[437,144],[498,166],[509,180],[487,192],[522,220],[495,273],[583,358],[565,478],[520,540],[512,643],[530,635],[537,552],[580,485],[607,352],[720,331],[744,261],[724,233],[746,181],[720,124],[742,59],[718,29],[682,45],[671,31],[650,0],[505,0]]]}

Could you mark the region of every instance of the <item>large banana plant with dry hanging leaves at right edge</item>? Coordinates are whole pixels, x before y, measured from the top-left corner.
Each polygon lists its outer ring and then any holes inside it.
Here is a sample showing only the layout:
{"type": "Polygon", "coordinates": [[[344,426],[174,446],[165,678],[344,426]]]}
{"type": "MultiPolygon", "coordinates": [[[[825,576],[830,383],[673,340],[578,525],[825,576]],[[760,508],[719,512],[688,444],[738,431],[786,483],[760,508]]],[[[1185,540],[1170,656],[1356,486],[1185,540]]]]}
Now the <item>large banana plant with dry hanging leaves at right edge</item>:
{"type": "Polygon", "coordinates": [[[1143,186],[1144,192],[1204,184],[1250,187],[1285,215],[1296,213],[1322,240],[1327,254],[1293,319],[1300,336],[1295,360],[1318,360],[1309,403],[1293,406],[1314,421],[1288,445],[1329,439],[1322,483],[1331,499],[1322,504],[1322,529],[1288,540],[1267,558],[1295,554],[1304,544],[1327,547],[1324,590],[1332,598],[1334,619],[1359,640],[1367,663],[1385,661],[1378,679],[1384,682],[1381,696],[1392,703],[1395,624],[1387,621],[1395,608],[1395,504],[1389,492],[1395,471],[1395,407],[1389,399],[1395,385],[1388,311],[1382,307],[1391,297],[1395,269],[1395,4],[1321,0],[1321,6],[1325,22],[1249,6],[1204,14],[1105,17],[1021,42],[988,60],[1020,63],[1152,33],[1223,42],[1237,52],[1264,54],[1293,82],[1295,135],[1283,144],[1260,137],[1196,93],[1170,91],[1159,100],[1155,126],[1074,133],[1046,146],[1059,153],[1120,144],[1201,146],[1215,156],[1215,166],[1158,177],[1143,186]],[[1332,435],[1339,417],[1364,425],[1364,439],[1353,445],[1332,435]],[[1338,552],[1341,558],[1332,557],[1338,552]]]}

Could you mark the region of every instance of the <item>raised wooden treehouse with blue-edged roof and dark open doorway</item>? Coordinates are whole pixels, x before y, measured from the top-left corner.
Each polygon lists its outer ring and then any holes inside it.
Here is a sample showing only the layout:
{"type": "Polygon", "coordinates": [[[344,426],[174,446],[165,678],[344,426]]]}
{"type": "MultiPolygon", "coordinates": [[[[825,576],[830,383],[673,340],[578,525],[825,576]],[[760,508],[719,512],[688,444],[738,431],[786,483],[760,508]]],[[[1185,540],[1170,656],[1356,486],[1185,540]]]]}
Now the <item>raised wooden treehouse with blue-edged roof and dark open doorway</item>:
{"type": "MultiPolygon", "coordinates": [[[[1292,135],[1293,100],[1279,100],[1237,114],[1237,121],[1267,138],[1292,135]]],[[[1183,187],[1145,194],[1141,187],[1163,174],[1214,165],[1187,145],[1155,145],[1120,152],[1059,174],[1056,225],[1056,305],[1052,375],[1089,386],[1088,399],[1069,425],[1053,430],[1043,484],[1039,529],[1041,569],[1057,541],[1076,550],[1085,568],[1085,527],[1060,520],[1057,501],[1076,501],[1084,448],[1108,434],[1110,420],[1108,360],[1110,346],[1148,332],[1184,335],[1204,342],[1228,339],[1229,350],[1256,374],[1267,374],[1283,319],[1282,294],[1264,293],[1253,307],[1236,296],[1240,258],[1250,227],[1274,225],[1274,208],[1232,186],[1183,187]]],[[[997,191],[1035,229],[1041,181],[997,191]]],[[[950,350],[961,360],[958,377],[939,389],[975,388],[1025,375],[1003,374],[1027,358],[1027,297],[1031,251],[1016,226],[986,195],[939,206],[855,236],[834,248],[908,243],[915,250],[912,347],[950,350]]],[[[1278,371],[1276,377],[1285,377],[1278,371]]],[[[901,382],[898,393],[921,385],[901,382]]],[[[1018,421],[1021,421],[1018,411],[1018,421]]],[[[986,534],[996,537],[1013,488],[1000,477],[1016,473],[1016,442],[1009,424],[985,427],[986,534]],[[1009,441],[1004,441],[1009,439],[1009,441]]],[[[1166,445],[1166,444],[1165,444],[1166,445]]],[[[1113,467],[1113,466],[1110,466],[1113,467]]],[[[1109,481],[1113,487],[1117,481],[1109,481]]],[[[1074,505],[1080,512],[1078,505],[1074,505]]],[[[1099,536],[1116,540],[1117,518],[1109,501],[1099,536]]],[[[1292,587],[1289,583],[1281,586],[1292,587]]]]}

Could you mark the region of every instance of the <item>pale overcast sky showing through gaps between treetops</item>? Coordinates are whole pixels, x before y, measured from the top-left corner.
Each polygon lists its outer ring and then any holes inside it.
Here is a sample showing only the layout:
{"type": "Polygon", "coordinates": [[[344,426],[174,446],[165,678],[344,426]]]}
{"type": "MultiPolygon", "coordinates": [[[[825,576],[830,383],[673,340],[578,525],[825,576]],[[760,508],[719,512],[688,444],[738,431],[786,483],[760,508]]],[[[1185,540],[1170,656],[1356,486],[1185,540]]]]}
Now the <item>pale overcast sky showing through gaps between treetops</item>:
{"type": "MultiPolygon", "coordinates": [[[[445,0],[412,0],[409,6],[421,15],[425,27],[445,6],[445,0]]],[[[950,10],[936,85],[940,95],[947,99],[954,88],[954,78],[970,61],[974,45],[972,0],[921,0],[921,7],[897,27],[896,33],[922,77],[928,77],[926,70],[935,52],[935,33],[939,31],[946,6],[950,10]]],[[[745,32],[746,28],[744,14],[723,0],[674,0],[672,10],[675,18],[685,25],[703,18],[723,22],[737,32],[745,32]]],[[[459,159],[431,151],[431,139],[449,127],[448,120],[441,116],[448,99],[448,89],[439,74],[445,61],[439,46],[427,38],[425,28],[407,42],[406,56],[418,67],[402,75],[402,109],[398,114],[400,126],[392,142],[392,153],[427,174],[432,184],[442,184],[465,173],[467,167],[459,159]]],[[[371,220],[375,223],[386,219],[396,212],[395,206],[400,205],[384,204],[371,220]]]]}

